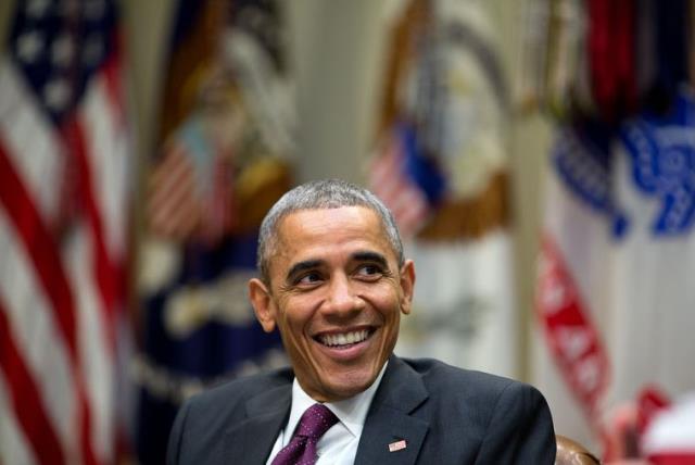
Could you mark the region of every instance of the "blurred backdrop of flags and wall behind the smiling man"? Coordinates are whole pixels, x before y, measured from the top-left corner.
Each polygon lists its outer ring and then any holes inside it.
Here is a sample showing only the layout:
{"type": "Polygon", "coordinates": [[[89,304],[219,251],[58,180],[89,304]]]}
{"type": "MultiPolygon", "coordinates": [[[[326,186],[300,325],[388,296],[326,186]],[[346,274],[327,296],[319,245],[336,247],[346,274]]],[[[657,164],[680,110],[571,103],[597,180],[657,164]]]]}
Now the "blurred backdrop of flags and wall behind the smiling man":
{"type": "Polygon", "coordinates": [[[286,364],[245,294],[256,229],[325,177],[381,197],[416,262],[396,353],[652,457],[695,390],[694,14],[3,1],[0,463],[163,463],[185,399],[286,364]]]}

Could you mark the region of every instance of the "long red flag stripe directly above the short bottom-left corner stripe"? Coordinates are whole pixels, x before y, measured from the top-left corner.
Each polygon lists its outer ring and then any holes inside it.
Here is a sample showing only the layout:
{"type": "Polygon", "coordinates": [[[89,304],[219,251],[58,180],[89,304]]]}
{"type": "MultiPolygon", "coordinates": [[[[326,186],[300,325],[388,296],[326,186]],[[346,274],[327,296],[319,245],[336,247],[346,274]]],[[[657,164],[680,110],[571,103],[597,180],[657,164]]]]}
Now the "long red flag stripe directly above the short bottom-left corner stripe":
{"type": "Polygon", "coordinates": [[[0,203],[16,230],[22,243],[31,259],[37,276],[51,305],[68,349],[68,355],[75,377],[79,404],[78,420],[81,427],[80,440],[84,461],[88,465],[97,464],[90,439],[90,409],[81,376],[80,357],[77,351],[76,319],[73,294],[58,254],[58,247],[48,232],[48,228],[10,162],[5,148],[0,143],[0,203]]]}

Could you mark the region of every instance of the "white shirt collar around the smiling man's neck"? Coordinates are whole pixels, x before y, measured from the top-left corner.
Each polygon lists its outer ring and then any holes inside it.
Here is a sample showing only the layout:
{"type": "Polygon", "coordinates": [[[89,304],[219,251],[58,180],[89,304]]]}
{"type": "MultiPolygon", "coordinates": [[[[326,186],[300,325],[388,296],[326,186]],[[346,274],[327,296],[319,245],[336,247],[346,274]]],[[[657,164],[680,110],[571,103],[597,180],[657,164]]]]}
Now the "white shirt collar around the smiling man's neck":
{"type": "MultiPolygon", "coordinates": [[[[386,372],[388,364],[389,361],[387,360],[387,363],[381,367],[381,372],[379,372],[377,379],[375,379],[371,386],[364,391],[342,401],[326,402],[324,404],[336,414],[338,419],[354,437],[358,438],[362,435],[362,428],[365,425],[367,412],[369,411],[369,406],[371,405],[374,395],[377,393],[379,385],[381,385],[381,378],[383,378],[383,373],[386,372]]],[[[304,389],[300,386],[296,377],[294,377],[294,381],[292,382],[292,407],[290,409],[290,418],[288,419],[287,428],[285,429],[286,437],[292,436],[294,428],[302,418],[302,414],[304,414],[306,409],[315,403],[316,401],[304,392],[304,389]]]]}

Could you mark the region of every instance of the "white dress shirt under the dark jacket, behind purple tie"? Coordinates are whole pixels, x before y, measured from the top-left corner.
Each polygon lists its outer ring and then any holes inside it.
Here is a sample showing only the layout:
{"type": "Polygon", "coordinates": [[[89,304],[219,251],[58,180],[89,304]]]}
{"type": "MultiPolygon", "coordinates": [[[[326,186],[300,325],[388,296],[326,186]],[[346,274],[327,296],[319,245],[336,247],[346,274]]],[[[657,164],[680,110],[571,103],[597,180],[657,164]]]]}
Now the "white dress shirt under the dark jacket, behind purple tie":
{"type": "MultiPolygon", "coordinates": [[[[327,402],[326,405],[338,417],[338,423],[333,425],[316,444],[318,458],[316,465],[352,465],[357,455],[357,444],[362,436],[362,428],[367,418],[367,412],[371,405],[374,394],[377,392],[383,372],[387,369],[383,364],[377,379],[365,391],[339,402],[327,402]]],[[[300,423],[306,409],[314,405],[316,401],[312,399],[300,386],[296,378],[292,382],[292,407],[290,418],[285,429],[280,430],[278,439],[273,445],[266,465],[270,465],[275,456],[290,443],[294,428],[300,423]]]]}

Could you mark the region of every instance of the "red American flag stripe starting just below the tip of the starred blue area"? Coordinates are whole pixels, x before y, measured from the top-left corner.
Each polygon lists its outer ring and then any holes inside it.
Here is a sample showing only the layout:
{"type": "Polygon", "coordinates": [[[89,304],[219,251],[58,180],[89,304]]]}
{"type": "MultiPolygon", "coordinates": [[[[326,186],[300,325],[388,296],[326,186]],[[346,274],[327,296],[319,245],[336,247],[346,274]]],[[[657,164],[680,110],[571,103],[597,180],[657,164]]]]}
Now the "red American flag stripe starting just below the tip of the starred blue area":
{"type": "Polygon", "coordinates": [[[72,118],[64,125],[63,136],[71,148],[71,152],[75,156],[75,162],[78,167],[79,198],[87,213],[87,219],[91,230],[92,266],[103,303],[103,318],[109,347],[111,349],[110,355],[113,356],[116,344],[115,310],[119,289],[119,284],[117,282],[118,274],[106,251],[103,219],[94,197],[91,163],[87,153],[85,134],[76,118],[72,118]]]}

